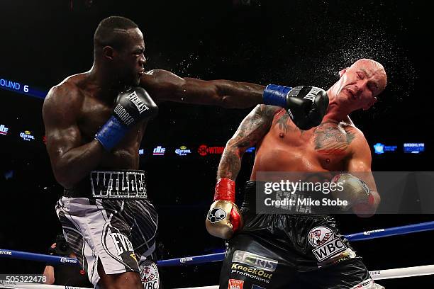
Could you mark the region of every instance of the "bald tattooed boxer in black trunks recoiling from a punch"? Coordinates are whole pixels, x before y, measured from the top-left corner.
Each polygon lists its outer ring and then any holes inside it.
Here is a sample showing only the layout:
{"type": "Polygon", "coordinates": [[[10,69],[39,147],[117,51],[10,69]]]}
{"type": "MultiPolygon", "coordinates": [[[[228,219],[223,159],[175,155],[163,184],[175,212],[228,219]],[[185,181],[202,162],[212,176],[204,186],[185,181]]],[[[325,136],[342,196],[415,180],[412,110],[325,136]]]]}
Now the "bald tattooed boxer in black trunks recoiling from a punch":
{"type": "Polygon", "coordinates": [[[257,106],[226,144],[217,173],[214,203],[206,227],[228,240],[220,288],[375,288],[374,281],[330,215],[257,214],[255,186],[260,171],[346,171],[343,210],[374,214],[380,197],[371,174],[371,152],[363,133],[347,115],[367,110],[386,86],[386,72],[374,60],[357,60],[343,69],[328,89],[328,110],[316,128],[301,130],[275,106],[257,106]],[[255,164],[240,210],[235,179],[248,147],[256,146],[255,164]],[[356,172],[365,172],[359,179],[356,172]],[[235,233],[235,234],[234,234],[235,233]],[[338,254],[333,242],[339,242],[338,254]],[[333,244],[332,244],[333,243],[333,244]],[[322,246],[329,246],[330,250],[322,246]],[[334,247],[333,247],[334,246],[334,247]],[[315,254],[314,251],[323,250],[315,254]],[[320,254],[321,253],[321,254],[320,254]],[[321,255],[321,258],[318,256],[321,255]]]}

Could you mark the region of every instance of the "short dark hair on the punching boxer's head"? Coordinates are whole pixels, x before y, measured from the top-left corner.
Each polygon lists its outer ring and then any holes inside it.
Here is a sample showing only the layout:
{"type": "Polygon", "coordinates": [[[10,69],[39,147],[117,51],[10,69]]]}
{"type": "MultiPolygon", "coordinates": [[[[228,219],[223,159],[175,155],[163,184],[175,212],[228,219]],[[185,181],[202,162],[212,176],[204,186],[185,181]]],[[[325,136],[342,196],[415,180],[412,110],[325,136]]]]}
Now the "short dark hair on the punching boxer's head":
{"type": "Polygon", "coordinates": [[[122,49],[126,45],[126,30],[138,28],[137,24],[122,16],[103,19],[95,30],[94,48],[111,46],[122,49]]]}

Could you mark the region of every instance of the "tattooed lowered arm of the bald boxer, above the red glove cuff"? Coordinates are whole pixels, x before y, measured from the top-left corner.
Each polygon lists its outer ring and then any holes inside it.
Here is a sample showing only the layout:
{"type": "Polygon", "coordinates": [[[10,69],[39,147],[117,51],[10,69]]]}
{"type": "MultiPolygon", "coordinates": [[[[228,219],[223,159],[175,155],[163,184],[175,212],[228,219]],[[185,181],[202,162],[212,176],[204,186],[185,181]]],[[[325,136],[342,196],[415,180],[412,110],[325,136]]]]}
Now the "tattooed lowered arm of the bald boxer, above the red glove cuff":
{"type": "Polygon", "coordinates": [[[272,125],[274,113],[280,109],[277,106],[261,104],[245,117],[235,135],[226,143],[218,164],[217,179],[228,178],[235,181],[245,150],[262,140],[272,125]]]}

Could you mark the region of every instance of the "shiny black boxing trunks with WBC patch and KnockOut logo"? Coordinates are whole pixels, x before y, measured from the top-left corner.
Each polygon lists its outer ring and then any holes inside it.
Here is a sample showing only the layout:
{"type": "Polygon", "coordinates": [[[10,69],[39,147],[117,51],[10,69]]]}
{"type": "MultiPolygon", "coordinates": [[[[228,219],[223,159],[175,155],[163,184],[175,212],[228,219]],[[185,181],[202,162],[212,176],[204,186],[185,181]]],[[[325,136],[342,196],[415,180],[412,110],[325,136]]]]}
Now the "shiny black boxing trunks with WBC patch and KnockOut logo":
{"type": "Polygon", "coordinates": [[[228,240],[226,288],[375,288],[360,256],[329,215],[256,214],[255,181],[245,186],[245,225],[228,240]]]}

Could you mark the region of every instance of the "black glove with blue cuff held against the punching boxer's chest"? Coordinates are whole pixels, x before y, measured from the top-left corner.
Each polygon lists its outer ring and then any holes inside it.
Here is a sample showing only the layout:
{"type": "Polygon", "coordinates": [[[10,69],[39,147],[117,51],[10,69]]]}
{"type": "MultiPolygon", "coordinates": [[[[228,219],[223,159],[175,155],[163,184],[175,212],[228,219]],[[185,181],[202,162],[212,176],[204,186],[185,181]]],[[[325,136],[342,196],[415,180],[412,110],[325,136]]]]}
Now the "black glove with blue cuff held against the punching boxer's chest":
{"type": "Polygon", "coordinates": [[[141,87],[118,94],[114,107],[111,118],[95,135],[95,139],[101,142],[107,151],[113,149],[135,123],[152,118],[158,113],[157,105],[141,87]]]}

